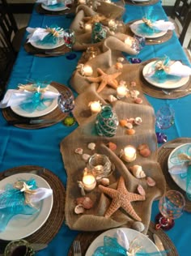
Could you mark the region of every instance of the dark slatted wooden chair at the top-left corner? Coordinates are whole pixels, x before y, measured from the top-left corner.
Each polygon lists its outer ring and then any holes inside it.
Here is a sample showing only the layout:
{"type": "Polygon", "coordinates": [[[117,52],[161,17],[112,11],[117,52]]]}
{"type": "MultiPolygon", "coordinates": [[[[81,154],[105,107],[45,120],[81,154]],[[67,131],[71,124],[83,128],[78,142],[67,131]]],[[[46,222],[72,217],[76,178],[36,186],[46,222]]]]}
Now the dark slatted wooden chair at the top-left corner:
{"type": "Polygon", "coordinates": [[[0,0],[0,19],[2,20],[2,31],[6,35],[7,40],[12,44],[15,53],[18,53],[26,28],[18,28],[6,0],[0,0]]]}

